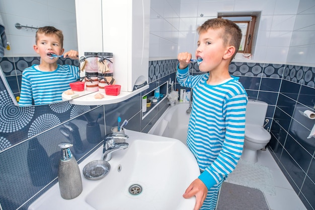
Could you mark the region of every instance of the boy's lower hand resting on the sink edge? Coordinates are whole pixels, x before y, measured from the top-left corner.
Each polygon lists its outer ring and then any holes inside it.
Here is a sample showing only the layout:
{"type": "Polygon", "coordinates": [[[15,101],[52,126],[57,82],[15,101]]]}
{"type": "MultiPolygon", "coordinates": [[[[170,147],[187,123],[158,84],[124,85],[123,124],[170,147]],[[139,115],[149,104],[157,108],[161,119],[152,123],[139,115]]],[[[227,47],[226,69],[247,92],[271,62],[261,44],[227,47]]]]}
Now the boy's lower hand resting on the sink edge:
{"type": "Polygon", "coordinates": [[[190,198],[196,196],[196,204],[194,210],[199,210],[202,206],[203,201],[206,199],[208,189],[206,185],[200,180],[195,179],[183,194],[184,198],[190,198]]]}

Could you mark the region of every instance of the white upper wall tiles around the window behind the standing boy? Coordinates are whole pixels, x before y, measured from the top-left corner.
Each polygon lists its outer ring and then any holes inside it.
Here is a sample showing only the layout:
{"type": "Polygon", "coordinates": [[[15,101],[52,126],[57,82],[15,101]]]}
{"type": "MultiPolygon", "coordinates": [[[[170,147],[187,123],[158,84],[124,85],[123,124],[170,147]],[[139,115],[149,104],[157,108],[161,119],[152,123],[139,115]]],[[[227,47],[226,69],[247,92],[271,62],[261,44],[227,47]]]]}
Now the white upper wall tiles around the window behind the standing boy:
{"type": "MultiPolygon", "coordinates": [[[[151,8],[154,11],[163,10],[159,3],[159,0],[151,0],[151,8]],[[154,6],[159,8],[154,9],[154,6]]],[[[179,0],[176,0],[176,3],[178,4],[179,0]]],[[[175,37],[178,38],[178,52],[188,51],[194,55],[198,40],[196,28],[205,20],[217,17],[218,13],[254,11],[261,12],[256,47],[252,57],[254,61],[315,66],[315,60],[309,56],[310,52],[315,51],[313,0],[181,0],[180,3],[179,36],[175,37]],[[204,13],[202,18],[200,13],[204,13]]],[[[161,29],[164,30],[166,29],[161,29]]],[[[174,30],[178,28],[175,27],[174,30]]],[[[164,53],[164,48],[169,49],[167,45],[166,43],[166,46],[159,46],[159,52],[164,53]]],[[[150,45],[150,57],[166,57],[164,54],[156,53],[156,50],[151,49],[152,47],[154,46],[150,45]],[[151,52],[154,52],[154,56],[151,52]]],[[[178,52],[176,50],[172,52],[174,54],[171,56],[177,57],[178,52]]],[[[170,54],[171,52],[168,51],[168,56],[170,54]]]]}

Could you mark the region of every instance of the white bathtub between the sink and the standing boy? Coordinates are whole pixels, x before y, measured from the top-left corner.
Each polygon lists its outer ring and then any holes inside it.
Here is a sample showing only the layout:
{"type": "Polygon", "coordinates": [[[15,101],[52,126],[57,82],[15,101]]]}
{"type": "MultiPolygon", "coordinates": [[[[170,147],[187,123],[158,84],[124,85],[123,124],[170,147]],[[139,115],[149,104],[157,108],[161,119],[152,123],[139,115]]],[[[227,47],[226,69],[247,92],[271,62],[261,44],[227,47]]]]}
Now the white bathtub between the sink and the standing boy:
{"type": "Polygon", "coordinates": [[[186,145],[190,114],[186,112],[189,103],[170,106],[149,130],[149,134],[179,139],[186,145]]]}

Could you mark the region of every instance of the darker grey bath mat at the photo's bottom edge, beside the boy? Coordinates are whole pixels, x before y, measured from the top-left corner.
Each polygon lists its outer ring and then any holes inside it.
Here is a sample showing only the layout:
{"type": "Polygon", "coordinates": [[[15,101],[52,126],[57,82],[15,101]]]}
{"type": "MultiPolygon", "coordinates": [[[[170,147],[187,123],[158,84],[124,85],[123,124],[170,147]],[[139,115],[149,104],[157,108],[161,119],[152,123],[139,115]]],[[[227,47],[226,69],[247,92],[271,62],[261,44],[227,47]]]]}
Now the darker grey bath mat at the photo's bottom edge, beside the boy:
{"type": "Polygon", "coordinates": [[[216,210],[269,210],[259,189],[223,182],[216,210]]]}

